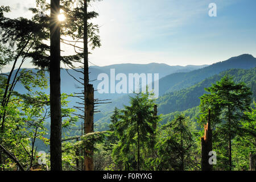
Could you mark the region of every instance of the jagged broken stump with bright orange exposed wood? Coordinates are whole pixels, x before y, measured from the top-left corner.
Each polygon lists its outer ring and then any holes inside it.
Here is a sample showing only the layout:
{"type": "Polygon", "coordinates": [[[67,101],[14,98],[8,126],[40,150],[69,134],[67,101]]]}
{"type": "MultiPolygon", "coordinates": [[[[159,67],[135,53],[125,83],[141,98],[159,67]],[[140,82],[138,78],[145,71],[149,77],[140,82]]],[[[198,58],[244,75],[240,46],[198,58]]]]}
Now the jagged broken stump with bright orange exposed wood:
{"type": "Polygon", "coordinates": [[[212,129],[210,128],[210,109],[208,112],[208,123],[204,126],[204,137],[201,138],[201,170],[212,171],[209,163],[209,152],[212,151],[212,129]]]}

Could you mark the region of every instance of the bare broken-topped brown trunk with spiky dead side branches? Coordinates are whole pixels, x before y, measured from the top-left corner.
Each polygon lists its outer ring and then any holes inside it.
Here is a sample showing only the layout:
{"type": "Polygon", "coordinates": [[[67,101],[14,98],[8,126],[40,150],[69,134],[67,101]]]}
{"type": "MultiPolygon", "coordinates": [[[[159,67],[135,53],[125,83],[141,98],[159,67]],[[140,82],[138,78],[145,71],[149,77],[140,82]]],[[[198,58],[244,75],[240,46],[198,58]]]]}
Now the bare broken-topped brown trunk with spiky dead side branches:
{"type": "MultiPolygon", "coordinates": [[[[88,84],[86,98],[86,119],[85,119],[85,134],[93,133],[93,113],[94,113],[94,89],[92,84],[88,84]]],[[[85,151],[84,161],[85,171],[93,171],[93,151],[85,151]]]]}

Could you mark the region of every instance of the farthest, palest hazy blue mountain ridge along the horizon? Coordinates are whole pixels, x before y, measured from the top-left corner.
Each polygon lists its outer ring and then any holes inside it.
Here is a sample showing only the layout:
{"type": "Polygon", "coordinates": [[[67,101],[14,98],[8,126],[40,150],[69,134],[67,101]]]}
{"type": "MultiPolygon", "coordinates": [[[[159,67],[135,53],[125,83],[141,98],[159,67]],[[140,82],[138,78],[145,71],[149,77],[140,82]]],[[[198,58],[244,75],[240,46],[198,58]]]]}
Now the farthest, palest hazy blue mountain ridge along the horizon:
{"type": "MultiPolygon", "coordinates": [[[[159,63],[150,63],[150,64],[114,64],[109,65],[105,67],[97,67],[92,66],[89,67],[89,78],[90,78],[90,84],[93,84],[94,90],[97,90],[97,85],[101,82],[97,80],[98,75],[100,73],[106,73],[106,75],[110,78],[110,69],[115,69],[115,75],[118,73],[125,73],[125,75],[128,77],[129,73],[159,73],[159,78],[162,78],[166,75],[169,75],[171,73],[175,72],[189,72],[195,69],[203,68],[207,65],[188,65],[186,67],[182,66],[170,66],[167,64],[159,64],[159,63]]],[[[36,69],[32,69],[33,72],[36,72],[36,69]]],[[[68,72],[65,69],[61,69],[61,92],[62,93],[78,93],[81,92],[81,84],[79,82],[75,81],[73,77],[75,77],[77,80],[80,80],[80,78],[83,78],[83,75],[81,73],[82,69],[68,69],[68,72]],[[70,75],[72,76],[70,76],[70,75]]],[[[14,71],[14,73],[16,70],[14,71]]],[[[49,73],[46,73],[46,76],[49,77],[49,73]]],[[[110,84],[110,83],[109,83],[110,84]]],[[[110,88],[110,85],[109,85],[110,88]]],[[[26,90],[23,88],[21,84],[18,84],[16,86],[16,90],[24,93],[26,90]]],[[[49,93],[49,89],[46,90],[47,93],[49,93]]],[[[105,99],[115,99],[118,97],[121,97],[126,94],[117,94],[117,93],[103,93],[100,94],[97,91],[94,92],[94,97],[98,98],[100,100],[105,99]]],[[[74,102],[75,103],[75,102],[74,102]]]]}

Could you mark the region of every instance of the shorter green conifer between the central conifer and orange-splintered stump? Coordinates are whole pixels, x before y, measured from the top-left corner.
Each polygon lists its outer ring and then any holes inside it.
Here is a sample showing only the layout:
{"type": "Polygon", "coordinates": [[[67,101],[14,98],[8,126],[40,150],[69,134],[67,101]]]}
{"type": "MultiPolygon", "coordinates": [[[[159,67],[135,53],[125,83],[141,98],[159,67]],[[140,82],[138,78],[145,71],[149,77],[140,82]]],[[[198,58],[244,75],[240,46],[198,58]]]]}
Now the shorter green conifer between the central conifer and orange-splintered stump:
{"type": "MultiPolygon", "coordinates": [[[[158,143],[155,148],[158,158],[155,159],[156,170],[191,169],[195,156],[195,125],[184,115],[159,129],[158,143]]],[[[196,164],[195,164],[196,166],[196,164]]]]}

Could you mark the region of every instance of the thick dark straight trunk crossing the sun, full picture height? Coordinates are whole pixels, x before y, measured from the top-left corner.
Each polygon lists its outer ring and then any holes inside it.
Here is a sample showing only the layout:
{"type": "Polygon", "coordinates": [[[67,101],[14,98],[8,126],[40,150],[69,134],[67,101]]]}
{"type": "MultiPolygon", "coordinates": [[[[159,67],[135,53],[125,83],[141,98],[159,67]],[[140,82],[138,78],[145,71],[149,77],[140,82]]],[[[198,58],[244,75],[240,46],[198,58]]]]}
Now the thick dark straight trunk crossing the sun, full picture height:
{"type": "Polygon", "coordinates": [[[50,106],[51,106],[51,170],[61,171],[61,96],[60,96],[60,0],[51,0],[51,56],[50,56],[50,106]]]}

